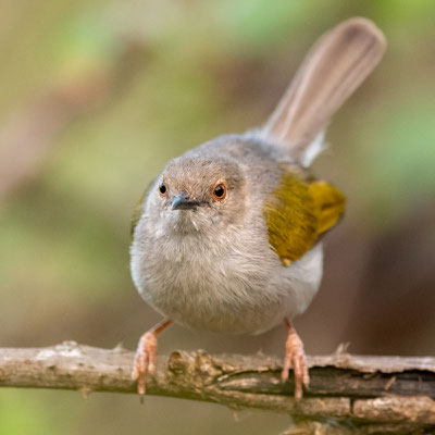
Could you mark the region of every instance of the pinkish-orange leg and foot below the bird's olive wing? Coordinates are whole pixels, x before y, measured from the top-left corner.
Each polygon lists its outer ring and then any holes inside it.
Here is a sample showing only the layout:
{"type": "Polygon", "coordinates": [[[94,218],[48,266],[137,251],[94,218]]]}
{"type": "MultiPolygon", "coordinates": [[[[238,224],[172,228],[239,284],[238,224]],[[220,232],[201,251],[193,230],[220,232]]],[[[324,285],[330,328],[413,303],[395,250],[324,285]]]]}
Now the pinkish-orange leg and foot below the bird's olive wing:
{"type": "Polygon", "coordinates": [[[281,378],[286,382],[288,380],[288,371],[293,366],[295,372],[295,398],[300,399],[302,397],[302,384],[307,389],[310,385],[303,343],[291,323],[287,319],[284,322],[288,330],[288,336],[281,378]]]}

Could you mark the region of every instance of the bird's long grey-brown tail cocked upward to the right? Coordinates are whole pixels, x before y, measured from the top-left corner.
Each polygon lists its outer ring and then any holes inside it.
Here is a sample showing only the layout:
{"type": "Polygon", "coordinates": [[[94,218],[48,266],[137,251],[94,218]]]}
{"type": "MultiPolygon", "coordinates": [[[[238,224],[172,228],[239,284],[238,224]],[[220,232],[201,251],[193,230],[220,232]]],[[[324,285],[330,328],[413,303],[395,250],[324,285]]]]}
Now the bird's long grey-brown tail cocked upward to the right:
{"type": "Polygon", "coordinates": [[[262,137],[291,148],[295,160],[308,166],[332,116],[376,66],[385,46],[382,32],[366,18],[327,32],[308,53],[262,137]]]}

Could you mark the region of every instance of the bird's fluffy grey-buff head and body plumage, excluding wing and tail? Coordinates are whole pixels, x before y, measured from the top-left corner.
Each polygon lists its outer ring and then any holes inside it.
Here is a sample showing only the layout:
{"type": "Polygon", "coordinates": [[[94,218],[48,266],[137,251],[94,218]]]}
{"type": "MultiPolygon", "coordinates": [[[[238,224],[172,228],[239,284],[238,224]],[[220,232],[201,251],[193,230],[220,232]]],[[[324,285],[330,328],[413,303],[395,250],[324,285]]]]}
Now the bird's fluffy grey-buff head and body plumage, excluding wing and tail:
{"type": "Polygon", "coordinates": [[[321,247],[283,266],[264,219],[287,157],[250,135],[233,135],[167,164],[145,198],[132,245],[133,278],[148,303],[185,325],[233,333],[266,331],[307,308],[322,274],[321,247]],[[210,195],[217,181],[228,186],[222,202],[210,195]],[[203,206],[172,210],[181,190],[203,206]]]}

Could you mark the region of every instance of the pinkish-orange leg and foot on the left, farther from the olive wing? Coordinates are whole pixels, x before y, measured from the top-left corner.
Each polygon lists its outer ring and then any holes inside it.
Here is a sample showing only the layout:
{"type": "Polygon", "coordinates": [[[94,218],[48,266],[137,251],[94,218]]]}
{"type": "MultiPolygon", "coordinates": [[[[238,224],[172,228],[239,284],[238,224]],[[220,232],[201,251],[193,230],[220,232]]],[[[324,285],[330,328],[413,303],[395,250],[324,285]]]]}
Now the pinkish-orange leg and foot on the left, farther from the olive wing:
{"type": "Polygon", "coordinates": [[[145,395],[147,372],[152,374],[156,370],[157,335],[171,323],[170,319],[162,320],[139,339],[133,363],[132,380],[137,381],[137,393],[141,396],[145,395]]]}

